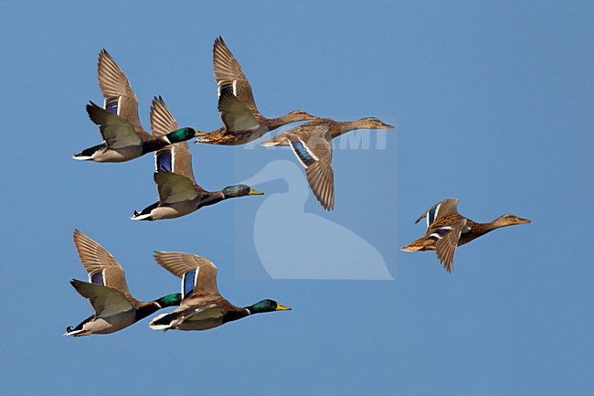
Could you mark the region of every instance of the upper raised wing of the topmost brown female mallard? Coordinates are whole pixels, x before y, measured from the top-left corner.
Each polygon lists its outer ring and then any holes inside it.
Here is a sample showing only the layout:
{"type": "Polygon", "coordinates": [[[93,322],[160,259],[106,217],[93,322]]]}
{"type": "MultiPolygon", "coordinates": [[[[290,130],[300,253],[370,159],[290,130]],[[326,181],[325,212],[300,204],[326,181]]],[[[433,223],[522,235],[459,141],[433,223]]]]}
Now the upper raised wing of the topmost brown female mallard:
{"type": "Polygon", "coordinates": [[[254,95],[251,92],[248,78],[241,70],[239,62],[235,59],[223,37],[215,40],[213,47],[213,66],[215,71],[215,80],[217,80],[218,95],[221,94],[221,88],[229,86],[232,93],[238,97],[251,110],[258,111],[254,95]]]}

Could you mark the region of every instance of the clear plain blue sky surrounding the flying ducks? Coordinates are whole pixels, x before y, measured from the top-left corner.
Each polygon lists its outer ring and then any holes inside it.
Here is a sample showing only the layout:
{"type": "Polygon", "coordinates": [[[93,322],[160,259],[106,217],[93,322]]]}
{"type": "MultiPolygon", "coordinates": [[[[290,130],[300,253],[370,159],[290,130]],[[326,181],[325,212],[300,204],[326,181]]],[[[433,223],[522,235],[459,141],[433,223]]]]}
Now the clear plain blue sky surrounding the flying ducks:
{"type": "MultiPolygon", "coordinates": [[[[0,392],[594,391],[594,6],[101,5],[3,3],[0,392]],[[132,81],[145,128],[154,95],[180,124],[217,128],[211,50],[219,35],[264,114],[301,108],[397,125],[385,150],[334,153],[334,212],[313,196],[304,204],[375,246],[394,280],[268,276],[249,221],[263,199],[291,190],[282,180],[263,183],[262,199],[138,223],[128,219],[133,209],[155,197],[152,156],[119,165],[70,158],[98,143],[84,104],[101,101],[101,48],[132,81]],[[414,219],[451,197],[476,221],[512,212],[533,223],[461,247],[452,274],[432,252],[399,252],[424,232],[414,219]],[[152,259],[153,250],[170,250],[216,262],[219,290],[234,304],[274,298],[293,310],[206,332],[156,332],[144,320],[111,336],[62,337],[90,315],[68,283],[85,278],[75,228],[122,262],[137,298],[179,289],[152,259]]],[[[191,148],[197,179],[212,189],[274,160],[296,163],[281,149],[191,148]]]]}

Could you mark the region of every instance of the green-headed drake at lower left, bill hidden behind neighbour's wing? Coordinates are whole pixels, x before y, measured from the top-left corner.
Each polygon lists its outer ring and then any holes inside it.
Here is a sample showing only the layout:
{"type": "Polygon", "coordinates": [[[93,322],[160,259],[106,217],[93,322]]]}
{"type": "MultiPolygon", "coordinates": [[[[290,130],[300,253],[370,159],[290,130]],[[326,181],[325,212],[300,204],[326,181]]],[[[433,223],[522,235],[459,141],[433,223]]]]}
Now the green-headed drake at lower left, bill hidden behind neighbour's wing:
{"type": "Polygon", "coordinates": [[[95,314],[78,326],[68,326],[64,336],[114,333],[161,308],[180,304],[182,295],[179,293],[167,294],[149,302],[136,300],[128,290],[122,265],[110,252],[80,230],[74,231],[74,243],[80,262],[89,273],[89,283],[73,279],[70,284],[89,300],[95,314]]]}

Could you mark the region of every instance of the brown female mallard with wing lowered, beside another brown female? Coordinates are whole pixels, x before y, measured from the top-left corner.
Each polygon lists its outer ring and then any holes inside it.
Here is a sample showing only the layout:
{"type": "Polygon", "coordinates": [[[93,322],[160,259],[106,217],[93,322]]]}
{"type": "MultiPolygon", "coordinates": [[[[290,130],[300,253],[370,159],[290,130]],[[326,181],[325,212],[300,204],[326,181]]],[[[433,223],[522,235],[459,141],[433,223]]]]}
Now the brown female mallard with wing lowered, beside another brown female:
{"type": "Polygon", "coordinates": [[[332,139],[355,129],[394,129],[375,117],[353,122],[338,122],[330,118],[303,123],[270,140],[263,146],[288,145],[305,168],[307,181],[315,198],[326,210],[334,209],[334,170],[332,169],[332,139]]]}

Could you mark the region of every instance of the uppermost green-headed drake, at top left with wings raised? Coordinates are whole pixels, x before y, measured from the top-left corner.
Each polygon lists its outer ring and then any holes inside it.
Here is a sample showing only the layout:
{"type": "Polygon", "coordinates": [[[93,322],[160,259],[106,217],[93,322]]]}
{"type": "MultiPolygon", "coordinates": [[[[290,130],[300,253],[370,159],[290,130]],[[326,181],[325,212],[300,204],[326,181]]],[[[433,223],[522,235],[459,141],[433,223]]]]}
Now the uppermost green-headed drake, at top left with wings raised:
{"type": "Polygon", "coordinates": [[[130,161],[167,144],[184,142],[205,134],[192,128],[178,128],[163,136],[146,133],[138,118],[138,99],[130,81],[105,49],[99,54],[97,75],[105,97],[105,108],[90,102],[87,104],[87,112],[90,120],[100,125],[103,143],[82,150],[72,156],[74,159],[95,162],[130,161]]]}

